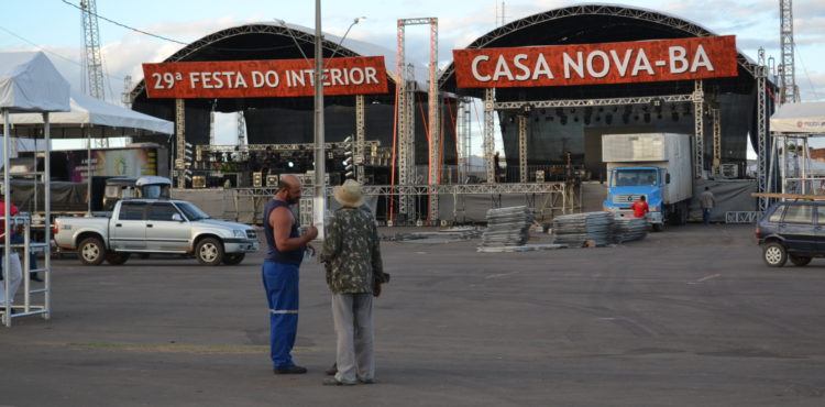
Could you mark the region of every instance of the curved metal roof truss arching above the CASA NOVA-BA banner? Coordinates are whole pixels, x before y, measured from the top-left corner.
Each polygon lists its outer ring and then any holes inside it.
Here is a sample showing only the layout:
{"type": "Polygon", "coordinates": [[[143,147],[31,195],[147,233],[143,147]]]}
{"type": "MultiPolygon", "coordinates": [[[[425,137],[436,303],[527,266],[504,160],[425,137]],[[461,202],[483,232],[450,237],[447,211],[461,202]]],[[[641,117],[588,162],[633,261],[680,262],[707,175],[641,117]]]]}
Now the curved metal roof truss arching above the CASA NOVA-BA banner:
{"type": "MultiPolygon", "coordinates": [[[[514,32],[522,29],[531,28],[534,25],[544,24],[554,20],[566,19],[576,15],[608,15],[612,18],[624,18],[634,19],[640,21],[647,21],[650,23],[664,25],[675,31],[686,34],[685,36],[713,36],[715,33],[703,29],[696,24],[684,21],[682,19],[674,18],[672,15],[661,14],[650,10],[630,9],[622,6],[607,6],[607,4],[582,4],[571,6],[562,9],[549,10],[542,13],[526,16],[520,20],[510,22],[507,25],[499,26],[487,34],[479,37],[473,43],[468,45],[468,48],[484,48],[497,40],[507,36],[514,32]]],[[[736,54],[737,64],[745,70],[756,77],[755,65],[748,61],[744,55],[736,54]]],[[[441,81],[447,80],[455,72],[455,65],[450,64],[447,69],[441,74],[441,81]]]]}

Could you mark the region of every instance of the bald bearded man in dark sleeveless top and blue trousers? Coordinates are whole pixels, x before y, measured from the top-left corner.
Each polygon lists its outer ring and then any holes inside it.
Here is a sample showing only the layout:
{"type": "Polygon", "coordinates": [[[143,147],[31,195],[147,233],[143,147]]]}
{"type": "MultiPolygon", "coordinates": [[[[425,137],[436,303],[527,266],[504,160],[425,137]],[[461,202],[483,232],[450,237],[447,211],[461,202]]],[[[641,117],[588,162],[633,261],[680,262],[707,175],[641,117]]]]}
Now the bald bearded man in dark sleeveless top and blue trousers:
{"type": "Polygon", "coordinates": [[[309,242],[318,237],[318,229],[312,226],[305,235],[298,232],[298,222],[289,206],[300,200],[300,193],[298,177],[282,176],[278,191],[264,210],[268,251],[264,258],[263,277],[270,301],[270,342],[275,374],[307,373],[306,367],[296,365],[289,355],[298,331],[298,267],[304,251],[315,251],[309,242]]]}

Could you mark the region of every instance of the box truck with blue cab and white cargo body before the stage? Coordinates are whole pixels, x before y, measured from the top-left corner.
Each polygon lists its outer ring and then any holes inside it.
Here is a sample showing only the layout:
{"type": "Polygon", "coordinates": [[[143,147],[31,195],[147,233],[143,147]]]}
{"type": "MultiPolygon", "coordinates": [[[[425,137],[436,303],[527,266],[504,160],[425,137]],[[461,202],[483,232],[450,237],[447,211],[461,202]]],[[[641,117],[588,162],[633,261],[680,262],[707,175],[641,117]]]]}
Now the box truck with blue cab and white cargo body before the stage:
{"type": "Polygon", "coordinates": [[[632,217],[630,205],[645,196],[653,230],[662,230],[666,220],[685,223],[693,196],[692,156],[689,134],[603,134],[602,161],[607,164],[608,182],[604,210],[632,217]]]}

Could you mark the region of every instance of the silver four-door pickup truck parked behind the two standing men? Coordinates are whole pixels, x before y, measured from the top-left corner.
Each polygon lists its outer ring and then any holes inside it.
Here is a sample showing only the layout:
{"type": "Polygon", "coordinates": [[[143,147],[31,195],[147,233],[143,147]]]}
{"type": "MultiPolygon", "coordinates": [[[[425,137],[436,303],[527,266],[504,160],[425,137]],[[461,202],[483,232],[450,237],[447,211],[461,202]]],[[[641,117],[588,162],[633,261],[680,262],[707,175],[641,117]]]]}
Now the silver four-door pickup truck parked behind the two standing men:
{"type": "Polygon", "coordinates": [[[173,199],[120,200],[106,218],[57,218],[54,241],[90,265],[123,264],[132,253],[194,253],[204,265],[237,265],[260,245],[252,227],[210,219],[173,199]]]}

